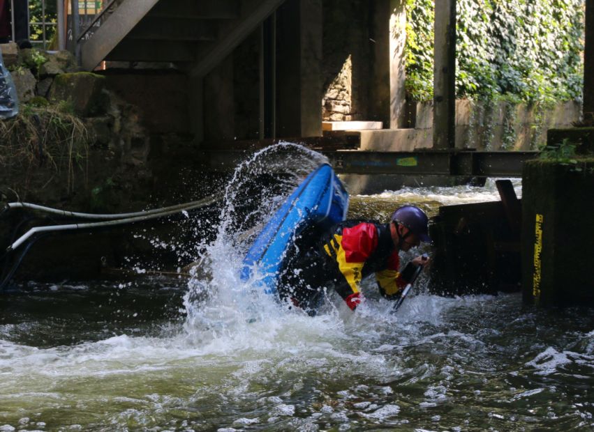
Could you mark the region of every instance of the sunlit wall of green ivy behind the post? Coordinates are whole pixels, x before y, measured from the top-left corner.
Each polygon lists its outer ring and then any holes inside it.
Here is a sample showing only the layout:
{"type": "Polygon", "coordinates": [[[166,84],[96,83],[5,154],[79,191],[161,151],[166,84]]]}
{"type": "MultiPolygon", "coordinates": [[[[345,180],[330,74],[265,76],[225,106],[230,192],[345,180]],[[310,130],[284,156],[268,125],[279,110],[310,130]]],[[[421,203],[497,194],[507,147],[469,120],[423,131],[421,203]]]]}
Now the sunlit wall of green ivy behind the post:
{"type": "MultiPolygon", "coordinates": [[[[406,0],[406,89],[433,98],[434,0],[406,0]]],[[[581,101],[584,0],[457,0],[456,96],[581,101]]]]}

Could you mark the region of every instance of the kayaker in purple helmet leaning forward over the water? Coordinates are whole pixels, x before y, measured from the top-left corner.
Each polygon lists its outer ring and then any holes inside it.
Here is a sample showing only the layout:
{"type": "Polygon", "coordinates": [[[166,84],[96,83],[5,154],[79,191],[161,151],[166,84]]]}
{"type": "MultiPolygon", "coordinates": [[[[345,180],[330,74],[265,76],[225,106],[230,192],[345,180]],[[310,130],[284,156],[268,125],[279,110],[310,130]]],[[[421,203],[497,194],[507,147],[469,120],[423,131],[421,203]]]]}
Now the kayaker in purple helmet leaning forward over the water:
{"type": "Polygon", "coordinates": [[[400,251],[431,242],[428,222],[417,206],[402,206],[388,224],[346,220],[325,233],[302,234],[281,277],[281,298],[314,314],[325,288],[332,287],[354,311],[364,300],[361,280],[374,272],[380,293],[397,300],[417,266],[429,263],[417,256],[399,271],[400,251]],[[312,241],[316,235],[319,240],[312,241]]]}

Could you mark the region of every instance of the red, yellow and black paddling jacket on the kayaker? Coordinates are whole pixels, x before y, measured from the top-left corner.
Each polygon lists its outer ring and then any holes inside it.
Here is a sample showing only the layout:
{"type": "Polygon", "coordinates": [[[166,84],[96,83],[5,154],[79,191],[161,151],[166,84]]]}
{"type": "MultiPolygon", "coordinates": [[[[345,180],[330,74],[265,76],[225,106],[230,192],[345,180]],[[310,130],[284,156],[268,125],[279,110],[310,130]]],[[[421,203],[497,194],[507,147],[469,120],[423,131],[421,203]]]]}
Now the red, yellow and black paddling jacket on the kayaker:
{"type": "Polygon", "coordinates": [[[406,286],[398,271],[400,259],[389,224],[346,221],[336,225],[325,240],[322,247],[337,273],[336,291],[350,309],[355,310],[362,301],[361,279],[372,272],[376,273],[380,292],[387,298],[397,298],[406,286]]]}

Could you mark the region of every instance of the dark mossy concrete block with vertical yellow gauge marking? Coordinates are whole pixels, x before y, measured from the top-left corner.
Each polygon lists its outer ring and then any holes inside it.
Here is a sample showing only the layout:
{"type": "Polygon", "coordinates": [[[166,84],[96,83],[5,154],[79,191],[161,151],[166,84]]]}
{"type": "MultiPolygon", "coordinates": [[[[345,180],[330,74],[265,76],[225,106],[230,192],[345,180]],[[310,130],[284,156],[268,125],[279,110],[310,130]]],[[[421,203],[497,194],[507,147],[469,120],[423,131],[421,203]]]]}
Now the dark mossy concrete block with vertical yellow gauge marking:
{"type": "Polygon", "coordinates": [[[594,303],[594,158],[522,173],[522,291],[542,307],[594,303]]]}

